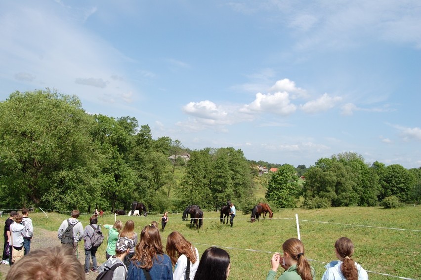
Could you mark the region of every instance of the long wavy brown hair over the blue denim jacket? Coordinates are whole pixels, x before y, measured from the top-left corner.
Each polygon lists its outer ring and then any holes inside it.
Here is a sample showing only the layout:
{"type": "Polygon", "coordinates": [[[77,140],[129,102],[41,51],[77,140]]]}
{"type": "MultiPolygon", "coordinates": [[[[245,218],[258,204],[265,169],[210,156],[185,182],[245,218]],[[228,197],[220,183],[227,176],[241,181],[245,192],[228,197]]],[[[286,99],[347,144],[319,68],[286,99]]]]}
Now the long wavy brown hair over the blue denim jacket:
{"type": "Polygon", "coordinates": [[[138,261],[141,268],[151,269],[154,259],[158,262],[164,260],[163,256],[159,259],[158,255],[164,255],[159,230],[154,226],[146,226],[140,233],[140,242],[136,245],[131,261],[136,267],[138,267],[136,264],[138,261]]]}

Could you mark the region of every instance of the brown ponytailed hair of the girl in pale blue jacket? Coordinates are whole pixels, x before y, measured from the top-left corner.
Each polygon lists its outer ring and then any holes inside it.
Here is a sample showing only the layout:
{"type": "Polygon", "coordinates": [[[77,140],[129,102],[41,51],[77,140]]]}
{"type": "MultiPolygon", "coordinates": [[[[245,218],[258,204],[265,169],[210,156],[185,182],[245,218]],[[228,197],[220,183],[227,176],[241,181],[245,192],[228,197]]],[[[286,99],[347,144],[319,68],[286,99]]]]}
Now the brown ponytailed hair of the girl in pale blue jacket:
{"type": "Polygon", "coordinates": [[[355,266],[355,262],[351,259],[354,253],[354,244],[347,237],[341,237],[335,242],[335,249],[339,256],[344,258],[340,271],[347,280],[357,280],[358,270],[355,266]]]}

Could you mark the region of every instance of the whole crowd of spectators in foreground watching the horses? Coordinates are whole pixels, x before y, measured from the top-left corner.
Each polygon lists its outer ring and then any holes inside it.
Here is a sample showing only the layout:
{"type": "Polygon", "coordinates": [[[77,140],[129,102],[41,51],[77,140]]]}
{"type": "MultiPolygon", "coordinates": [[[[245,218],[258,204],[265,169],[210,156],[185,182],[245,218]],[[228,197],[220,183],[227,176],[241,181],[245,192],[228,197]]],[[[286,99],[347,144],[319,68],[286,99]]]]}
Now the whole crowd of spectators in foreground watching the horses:
{"type": "MultiPolygon", "coordinates": [[[[124,225],[121,221],[116,221],[114,225],[104,225],[103,227],[108,229],[105,252],[107,260],[98,266],[98,246],[92,241],[94,234],[100,231],[97,216],[92,215],[89,225],[85,227],[78,217],[79,211],[73,210],[71,218],[64,220],[60,225],[58,239],[62,242],[61,248],[34,250],[11,267],[6,280],[32,279],[31,277],[45,273],[46,270],[52,277],[48,279],[85,279],[85,274],[90,272],[99,273],[98,277],[112,274],[113,280],[226,280],[229,276],[231,261],[228,252],[218,247],[210,247],[199,258],[198,249],[177,231],[168,235],[164,250],[158,223],[155,221],[142,229],[139,239],[134,232],[132,220],[126,221],[124,225]],[[69,239],[69,235],[71,242],[64,241],[69,239]],[[84,267],[75,256],[78,242],[82,240],[85,252],[84,267]],[[57,269],[61,266],[65,266],[66,269],[57,269]],[[50,269],[53,272],[50,272],[50,269]]],[[[164,228],[165,226],[163,230],[164,228]]],[[[12,211],[4,227],[5,247],[2,262],[10,265],[14,263],[11,249],[10,255],[7,255],[6,244],[14,248],[13,252],[24,251],[28,254],[32,236],[33,226],[28,217],[28,209],[23,208],[22,214],[12,211]],[[26,245],[25,240],[29,240],[26,245]]],[[[282,255],[273,254],[270,260],[272,269],[266,280],[275,280],[280,266],[285,272],[278,280],[315,280],[315,270],[305,257],[301,240],[286,240],[282,244],[282,251],[282,255]]],[[[327,270],[322,280],[368,280],[367,272],[352,259],[353,252],[352,241],[346,237],[339,238],[335,242],[337,260],[325,266],[327,270]]]]}

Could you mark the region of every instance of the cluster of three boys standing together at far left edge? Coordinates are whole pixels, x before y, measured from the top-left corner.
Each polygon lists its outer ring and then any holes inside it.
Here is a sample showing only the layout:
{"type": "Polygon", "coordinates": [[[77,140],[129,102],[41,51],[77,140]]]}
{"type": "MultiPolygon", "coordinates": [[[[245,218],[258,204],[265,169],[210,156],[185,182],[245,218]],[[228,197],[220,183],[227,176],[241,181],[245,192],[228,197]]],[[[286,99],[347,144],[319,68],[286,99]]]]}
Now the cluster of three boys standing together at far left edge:
{"type": "Polygon", "coordinates": [[[28,208],[22,208],[21,213],[12,210],[10,217],[4,221],[4,246],[1,263],[11,266],[29,253],[34,227],[28,213],[28,208]]]}

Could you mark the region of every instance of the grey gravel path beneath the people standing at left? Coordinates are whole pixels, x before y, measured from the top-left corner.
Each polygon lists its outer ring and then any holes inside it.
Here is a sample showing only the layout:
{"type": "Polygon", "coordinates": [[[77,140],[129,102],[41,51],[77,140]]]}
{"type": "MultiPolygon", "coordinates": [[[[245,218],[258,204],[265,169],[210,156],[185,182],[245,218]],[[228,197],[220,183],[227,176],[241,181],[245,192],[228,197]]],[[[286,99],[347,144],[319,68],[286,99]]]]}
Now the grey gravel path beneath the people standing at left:
{"type": "MultiPolygon", "coordinates": [[[[51,247],[51,246],[61,246],[60,240],[57,239],[57,232],[50,232],[44,229],[37,228],[37,235],[31,240],[31,250],[35,250],[38,248],[45,248],[45,247],[51,247]]],[[[100,254],[103,254],[103,258],[105,259],[105,247],[102,245],[98,252],[96,253],[96,257],[98,259],[100,254]]],[[[85,255],[84,255],[84,245],[83,242],[79,244],[78,246],[78,254],[79,254],[79,261],[84,265],[85,263],[85,255]]],[[[98,266],[101,264],[101,262],[98,261],[98,266]]],[[[91,261],[92,266],[92,261],[91,261]]],[[[6,279],[6,275],[9,272],[10,266],[1,264],[0,265],[0,273],[2,274],[1,280],[6,279]]],[[[89,275],[86,275],[86,280],[95,280],[98,276],[97,273],[90,272],[89,275]]]]}

